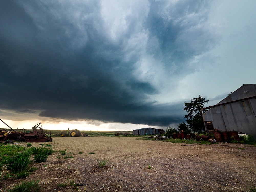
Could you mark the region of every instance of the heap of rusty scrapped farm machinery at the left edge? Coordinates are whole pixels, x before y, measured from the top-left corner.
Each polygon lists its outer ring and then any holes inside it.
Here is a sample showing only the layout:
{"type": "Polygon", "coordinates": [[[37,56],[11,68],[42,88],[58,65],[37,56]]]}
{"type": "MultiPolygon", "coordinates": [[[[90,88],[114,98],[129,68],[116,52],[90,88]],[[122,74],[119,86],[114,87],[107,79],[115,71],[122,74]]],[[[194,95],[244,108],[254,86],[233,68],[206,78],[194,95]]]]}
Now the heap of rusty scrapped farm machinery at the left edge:
{"type": "MultiPolygon", "coordinates": [[[[3,123],[7,125],[5,122],[3,123]]],[[[17,130],[15,131],[10,126],[8,126],[11,129],[10,131],[7,131],[6,129],[0,130],[0,141],[1,143],[7,140],[25,141],[25,142],[52,141],[51,131],[45,132],[40,126],[42,126],[41,123],[36,124],[34,127],[32,127],[32,131],[29,131],[29,132],[25,131],[25,129],[22,129],[22,131],[17,131],[17,130]]]]}

